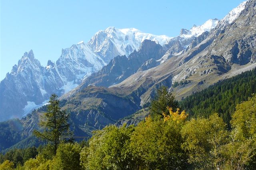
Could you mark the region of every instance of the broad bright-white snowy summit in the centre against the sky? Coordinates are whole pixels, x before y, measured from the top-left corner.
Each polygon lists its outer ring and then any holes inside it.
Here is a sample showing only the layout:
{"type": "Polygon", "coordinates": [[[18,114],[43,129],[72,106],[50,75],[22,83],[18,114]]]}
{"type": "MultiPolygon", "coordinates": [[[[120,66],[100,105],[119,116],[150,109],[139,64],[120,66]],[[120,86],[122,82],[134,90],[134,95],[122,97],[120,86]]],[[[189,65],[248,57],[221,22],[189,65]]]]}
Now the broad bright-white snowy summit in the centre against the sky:
{"type": "Polygon", "coordinates": [[[97,32],[88,42],[88,46],[108,63],[117,55],[128,56],[134,50],[138,50],[144,40],[152,40],[163,45],[169,39],[171,38],[168,36],[156,36],[135,28],[108,27],[97,32]]]}

